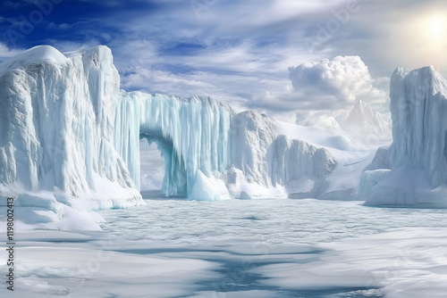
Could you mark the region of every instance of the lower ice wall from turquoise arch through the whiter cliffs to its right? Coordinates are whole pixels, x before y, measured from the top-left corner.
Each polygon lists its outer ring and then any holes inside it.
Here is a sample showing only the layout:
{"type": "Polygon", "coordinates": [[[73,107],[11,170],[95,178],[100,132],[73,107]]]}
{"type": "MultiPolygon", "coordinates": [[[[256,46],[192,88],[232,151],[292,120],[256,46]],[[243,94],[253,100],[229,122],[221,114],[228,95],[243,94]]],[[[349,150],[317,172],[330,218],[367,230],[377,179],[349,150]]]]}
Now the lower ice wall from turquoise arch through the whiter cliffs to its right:
{"type": "MultiPolygon", "coordinates": [[[[208,97],[182,99],[122,91],[115,127],[128,129],[117,130],[115,140],[125,137],[116,147],[137,187],[139,138],[157,144],[165,161],[162,191],[168,196],[257,197],[262,196],[259,191],[288,186],[301,178],[313,184],[325,179],[335,166],[324,148],[279,135],[278,125],[266,115],[236,113],[228,103],[208,97]],[[229,170],[239,170],[240,175],[229,178],[229,170]]],[[[281,189],[279,196],[287,196],[287,191],[281,189]]]]}

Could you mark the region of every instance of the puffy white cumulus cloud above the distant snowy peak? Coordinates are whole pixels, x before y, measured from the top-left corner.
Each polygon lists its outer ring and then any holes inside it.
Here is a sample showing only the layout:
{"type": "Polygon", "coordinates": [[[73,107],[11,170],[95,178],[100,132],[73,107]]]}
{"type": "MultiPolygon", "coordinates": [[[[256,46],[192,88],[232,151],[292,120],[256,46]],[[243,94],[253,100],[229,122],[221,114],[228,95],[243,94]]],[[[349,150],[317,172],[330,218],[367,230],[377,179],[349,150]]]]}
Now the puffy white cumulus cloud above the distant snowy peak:
{"type": "Polygon", "coordinates": [[[349,109],[358,99],[371,103],[387,97],[384,90],[375,87],[375,79],[358,56],[302,63],[289,68],[289,78],[303,108],[349,109]]]}

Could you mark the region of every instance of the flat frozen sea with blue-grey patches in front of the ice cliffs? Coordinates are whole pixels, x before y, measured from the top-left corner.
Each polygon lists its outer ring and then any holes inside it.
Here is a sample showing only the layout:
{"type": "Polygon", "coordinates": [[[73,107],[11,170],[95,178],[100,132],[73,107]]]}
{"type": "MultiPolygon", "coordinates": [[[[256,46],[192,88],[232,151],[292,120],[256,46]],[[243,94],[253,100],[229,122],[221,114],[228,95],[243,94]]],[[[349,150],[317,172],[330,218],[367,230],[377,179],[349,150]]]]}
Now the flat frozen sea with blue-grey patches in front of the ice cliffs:
{"type": "Polygon", "coordinates": [[[144,195],[99,211],[103,231],[17,234],[15,291],[0,296],[447,296],[446,210],[144,195]]]}

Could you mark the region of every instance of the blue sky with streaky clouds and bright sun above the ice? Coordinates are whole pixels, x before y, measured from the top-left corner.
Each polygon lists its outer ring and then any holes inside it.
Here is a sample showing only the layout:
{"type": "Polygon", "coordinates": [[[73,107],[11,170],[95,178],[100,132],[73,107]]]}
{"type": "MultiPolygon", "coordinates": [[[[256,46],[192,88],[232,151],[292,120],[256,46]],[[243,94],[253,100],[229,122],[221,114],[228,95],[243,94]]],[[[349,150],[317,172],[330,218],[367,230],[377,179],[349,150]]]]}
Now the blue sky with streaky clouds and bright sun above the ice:
{"type": "Polygon", "coordinates": [[[208,95],[301,123],[361,99],[389,119],[397,67],[447,77],[438,0],[5,0],[0,62],[38,45],[112,49],[122,88],[208,95]]]}

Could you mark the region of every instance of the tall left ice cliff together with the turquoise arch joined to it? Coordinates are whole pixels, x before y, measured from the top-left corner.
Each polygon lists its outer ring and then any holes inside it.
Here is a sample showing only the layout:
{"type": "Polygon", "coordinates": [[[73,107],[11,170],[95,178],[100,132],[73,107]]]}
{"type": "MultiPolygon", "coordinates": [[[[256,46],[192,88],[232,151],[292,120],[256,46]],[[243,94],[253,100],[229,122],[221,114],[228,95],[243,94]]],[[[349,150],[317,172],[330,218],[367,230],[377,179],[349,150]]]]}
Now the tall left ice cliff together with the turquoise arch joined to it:
{"type": "Polygon", "coordinates": [[[190,195],[198,179],[230,165],[229,104],[126,93],[105,46],[69,57],[38,46],[0,70],[0,182],[9,186],[3,195],[14,195],[13,188],[34,194],[57,190],[66,203],[110,189],[102,196],[111,201],[97,208],[142,203],[140,137],[161,148],[166,195],[190,195]]]}

